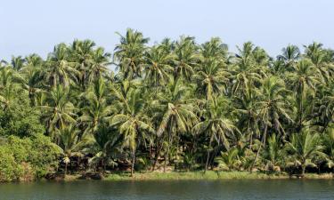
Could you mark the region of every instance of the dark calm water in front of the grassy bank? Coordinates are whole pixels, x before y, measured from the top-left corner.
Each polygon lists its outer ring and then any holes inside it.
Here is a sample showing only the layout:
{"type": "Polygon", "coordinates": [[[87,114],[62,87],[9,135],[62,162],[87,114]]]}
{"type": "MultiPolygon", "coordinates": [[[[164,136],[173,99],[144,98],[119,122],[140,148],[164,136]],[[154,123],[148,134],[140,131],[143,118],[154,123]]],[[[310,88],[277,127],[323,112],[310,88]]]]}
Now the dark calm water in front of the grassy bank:
{"type": "Polygon", "coordinates": [[[0,184],[1,200],[334,199],[334,180],[77,181],[0,184]]]}

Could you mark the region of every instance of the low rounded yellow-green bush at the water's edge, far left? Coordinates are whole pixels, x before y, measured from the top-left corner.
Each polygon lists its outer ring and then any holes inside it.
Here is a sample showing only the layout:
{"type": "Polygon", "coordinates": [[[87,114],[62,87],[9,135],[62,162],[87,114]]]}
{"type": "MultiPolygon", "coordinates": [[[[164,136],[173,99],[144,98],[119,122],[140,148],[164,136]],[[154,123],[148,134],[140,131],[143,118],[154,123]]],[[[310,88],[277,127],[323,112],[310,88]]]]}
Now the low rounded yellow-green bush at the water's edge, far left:
{"type": "Polygon", "coordinates": [[[0,181],[35,180],[58,167],[59,148],[43,135],[10,136],[0,146],[0,181]]]}

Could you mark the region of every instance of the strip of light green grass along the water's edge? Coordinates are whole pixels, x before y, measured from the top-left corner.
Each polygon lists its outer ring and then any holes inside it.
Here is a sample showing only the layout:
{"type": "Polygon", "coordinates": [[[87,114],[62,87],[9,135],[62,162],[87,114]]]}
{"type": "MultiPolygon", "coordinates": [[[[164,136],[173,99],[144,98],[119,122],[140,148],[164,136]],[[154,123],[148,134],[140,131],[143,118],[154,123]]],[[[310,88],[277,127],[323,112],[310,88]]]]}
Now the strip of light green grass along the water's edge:
{"type": "MultiPolygon", "coordinates": [[[[68,175],[65,181],[80,180],[80,175],[68,175]]],[[[300,179],[298,176],[289,176],[288,173],[264,172],[136,172],[131,177],[128,172],[118,172],[105,175],[102,180],[287,180],[300,179]]],[[[331,180],[332,173],[306,173],[305,180],[331,180]]]]}

